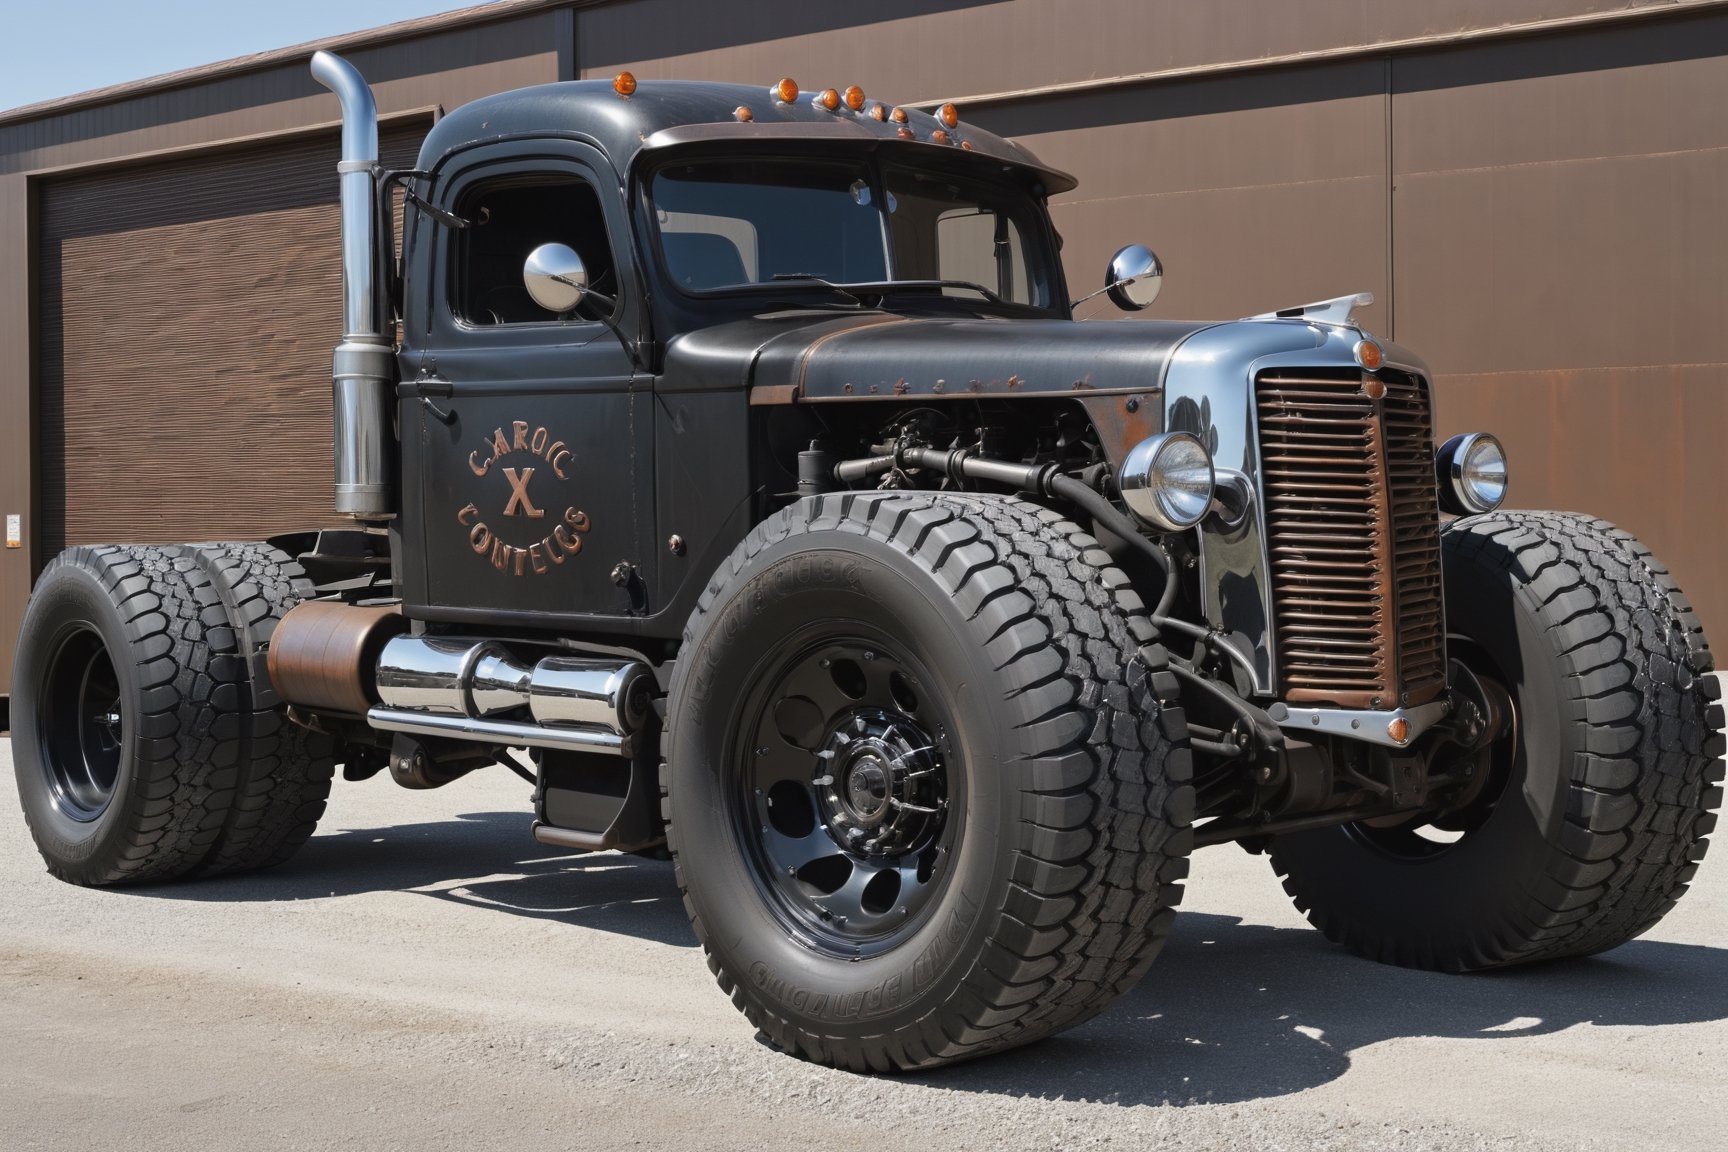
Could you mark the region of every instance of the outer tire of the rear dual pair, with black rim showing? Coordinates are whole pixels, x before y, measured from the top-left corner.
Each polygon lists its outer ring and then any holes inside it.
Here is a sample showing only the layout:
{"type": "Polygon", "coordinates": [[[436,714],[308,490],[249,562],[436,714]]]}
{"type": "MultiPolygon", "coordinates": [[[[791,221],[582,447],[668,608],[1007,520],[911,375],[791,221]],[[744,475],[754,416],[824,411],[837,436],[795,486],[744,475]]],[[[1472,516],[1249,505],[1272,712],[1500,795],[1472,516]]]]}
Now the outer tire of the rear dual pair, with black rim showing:
{"type": "Polygon", "coordinates": [[[19,800],[74,884],[197,869],[233,800],[237,663],[209,575],[176,548],[74,548],[24,611],[12,672],[19,800]]]}

